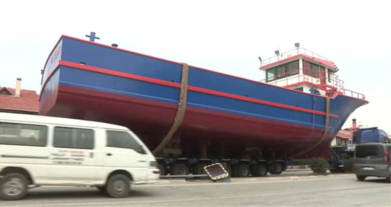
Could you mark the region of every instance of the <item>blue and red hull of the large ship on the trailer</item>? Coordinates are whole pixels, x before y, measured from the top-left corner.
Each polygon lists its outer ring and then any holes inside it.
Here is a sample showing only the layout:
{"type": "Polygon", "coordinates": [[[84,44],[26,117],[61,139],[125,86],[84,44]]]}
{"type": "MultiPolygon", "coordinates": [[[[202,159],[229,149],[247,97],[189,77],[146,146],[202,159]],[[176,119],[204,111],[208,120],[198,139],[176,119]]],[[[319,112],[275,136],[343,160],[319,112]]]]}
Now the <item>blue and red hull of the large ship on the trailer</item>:
{"type": "MultiPolygon", "coordinates": [[[[43,71],[39,113],[125,125],[153,149],[176,115],[181,70],[180,63],[62,36],[43,71]]],[[[202,140],[215,149],[224,143],[227,156],[245,147],[296,153],[322,137],[325,103],[322,96],[189,66],[176,136],[187,157],[197,157],[202,140]]],[[[366,103],[332,97],[329,133],[303,157],[327,155],[348,116],[366,103]]]]}

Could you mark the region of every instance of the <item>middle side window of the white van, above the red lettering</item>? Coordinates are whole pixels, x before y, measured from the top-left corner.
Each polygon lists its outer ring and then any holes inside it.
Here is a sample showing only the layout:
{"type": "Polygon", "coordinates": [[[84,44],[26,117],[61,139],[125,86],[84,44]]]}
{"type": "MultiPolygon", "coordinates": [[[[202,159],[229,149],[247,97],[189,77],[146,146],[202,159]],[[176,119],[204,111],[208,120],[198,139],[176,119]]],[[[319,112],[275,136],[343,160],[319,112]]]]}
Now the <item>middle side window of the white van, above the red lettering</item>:
{"type": "Polygon", "coordinates": [[[56,148],[93,149],[94,131],[56,126],[53,134],[53,146],[56,148]]]}

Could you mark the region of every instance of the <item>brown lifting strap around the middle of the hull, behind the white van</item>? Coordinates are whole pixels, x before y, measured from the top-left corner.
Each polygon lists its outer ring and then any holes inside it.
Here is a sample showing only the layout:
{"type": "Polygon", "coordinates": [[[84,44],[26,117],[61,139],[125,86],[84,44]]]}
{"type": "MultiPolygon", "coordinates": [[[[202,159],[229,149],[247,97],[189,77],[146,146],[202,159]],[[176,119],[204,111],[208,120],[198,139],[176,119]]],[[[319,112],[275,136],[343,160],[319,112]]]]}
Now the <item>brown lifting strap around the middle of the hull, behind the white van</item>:
{"type": "Polygon", "coordinates": [[[187,65],[187,63],[182,63],[182,64],[183,64],[182,77],[181,77],[181,88],[179,93],[178,110],[176,112],[174,123],[172,124],[170,131],[167,133],[167,135],[164,137],[161,143],[152,151],[152,154],[154,155],[159,153],[167,145],[167,143],[169,143],[172,136],[181,125],[183,121],[183,117],[185,116],[189,66],[187,65]]]}

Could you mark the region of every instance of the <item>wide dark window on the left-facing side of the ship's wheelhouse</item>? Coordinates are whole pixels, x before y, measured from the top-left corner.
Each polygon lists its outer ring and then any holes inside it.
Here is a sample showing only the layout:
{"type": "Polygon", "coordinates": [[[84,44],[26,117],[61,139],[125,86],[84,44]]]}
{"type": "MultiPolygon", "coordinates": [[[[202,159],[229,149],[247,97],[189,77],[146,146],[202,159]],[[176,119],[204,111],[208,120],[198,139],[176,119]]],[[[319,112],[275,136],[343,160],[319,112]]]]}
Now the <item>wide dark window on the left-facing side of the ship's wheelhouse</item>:
{"type": "Polygon", "coordinates": [[[266,82],[299,74],[299,61],[292,61],[266,70],[266,82]]]}

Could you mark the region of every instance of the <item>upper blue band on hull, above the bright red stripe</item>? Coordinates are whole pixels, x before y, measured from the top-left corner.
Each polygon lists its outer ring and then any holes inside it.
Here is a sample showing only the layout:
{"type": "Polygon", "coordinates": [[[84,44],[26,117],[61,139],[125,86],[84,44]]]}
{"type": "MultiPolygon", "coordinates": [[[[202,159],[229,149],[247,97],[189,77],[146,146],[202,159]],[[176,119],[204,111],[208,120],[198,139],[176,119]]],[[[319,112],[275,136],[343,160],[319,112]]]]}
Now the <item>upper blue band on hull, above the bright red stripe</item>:
{"type": "MultiPolygon", "coordinates": [[[[61,59],[165,81],[181,81],[181,65],[63,38],[61,59]]],[[[312,110],[313,95],[189,67],[189,85],[312,110]]],[[[316,110],[325,111],[325,98],[316,97],[316,110]]],[[[332,109],[330,113],[337,113],[332,109]]]]}

